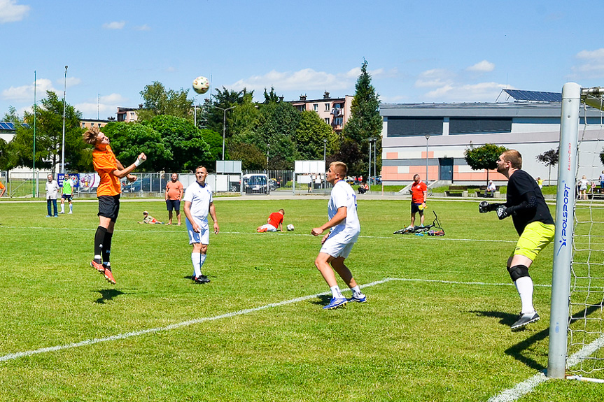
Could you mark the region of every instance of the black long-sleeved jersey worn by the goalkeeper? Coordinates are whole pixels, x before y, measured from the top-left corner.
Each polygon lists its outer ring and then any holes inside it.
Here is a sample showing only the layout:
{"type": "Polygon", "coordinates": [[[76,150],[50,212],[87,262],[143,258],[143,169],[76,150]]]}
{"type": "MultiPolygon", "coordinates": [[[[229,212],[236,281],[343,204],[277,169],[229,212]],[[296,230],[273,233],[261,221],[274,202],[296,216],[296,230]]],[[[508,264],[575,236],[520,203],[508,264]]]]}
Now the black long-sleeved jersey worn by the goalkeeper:
{"type": "Polygon", "coordinates": [[[531,175],[521,169],[514,171],[507,181],[505,206],[519,206],[519,208],[514,209],[512,214],[514,227],[518,234],[522,234],[526,225],[531,222],[554,224],[554,218],[549,213],[549,208],[537,182],[531,175]],[[535,206],[530,206],[533,196],[535,196],[533,200],[535,206]]]}

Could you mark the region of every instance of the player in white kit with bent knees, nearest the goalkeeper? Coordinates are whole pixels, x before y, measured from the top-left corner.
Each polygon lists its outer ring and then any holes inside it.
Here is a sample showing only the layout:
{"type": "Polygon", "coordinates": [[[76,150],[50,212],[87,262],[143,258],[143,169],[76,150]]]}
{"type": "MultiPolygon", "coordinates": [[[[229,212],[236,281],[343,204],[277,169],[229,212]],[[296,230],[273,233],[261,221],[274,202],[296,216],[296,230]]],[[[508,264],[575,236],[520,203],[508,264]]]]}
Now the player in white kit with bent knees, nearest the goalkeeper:
{"type": "Polygon", "coordinates": [[[321,251],[314,261],[315,266],[323,275],[323,279],[325,279],[332,292],[330,303],[323,307],[327,310],[345,306],[349,301],[357,301],[358,303],[367,301],[367,297],[360,292],[351,271],[344,265],[344,260],[349,256],[352,246],[356,243],[360,234],[360,222],[356,213],[356,194],[344,180],[347,171],[348,168],[344,162],[332,162],[330,164],[327,173],[325,173],[325,180],[333,185],[328,204],[329,221],[311,231],[313,236],[318,236],[323,231],[332,228],[328,234],[323,236],[321,240],[323,247],[321,247],[321,251]],[[342,296],[332,268],[352,289],[351,299],[342,296]]]}

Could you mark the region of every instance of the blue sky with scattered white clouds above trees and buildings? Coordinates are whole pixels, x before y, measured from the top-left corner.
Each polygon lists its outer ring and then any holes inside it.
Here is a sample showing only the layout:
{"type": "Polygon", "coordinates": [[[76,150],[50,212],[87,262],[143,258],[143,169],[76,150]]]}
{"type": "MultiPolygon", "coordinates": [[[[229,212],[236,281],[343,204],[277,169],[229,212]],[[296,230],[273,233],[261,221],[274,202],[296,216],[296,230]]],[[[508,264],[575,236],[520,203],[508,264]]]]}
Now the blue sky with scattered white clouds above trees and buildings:
{"type": "Polygon", "coordinates": [[[153,81],[197,76],[256,100],[353,95],[363,57],[387,103],[604,86],[603,16],[595,0],[0,0],[0,117],[31,108],[34,71],[38,99],[66,81],[67,102],[101,119],[153,81]]]}

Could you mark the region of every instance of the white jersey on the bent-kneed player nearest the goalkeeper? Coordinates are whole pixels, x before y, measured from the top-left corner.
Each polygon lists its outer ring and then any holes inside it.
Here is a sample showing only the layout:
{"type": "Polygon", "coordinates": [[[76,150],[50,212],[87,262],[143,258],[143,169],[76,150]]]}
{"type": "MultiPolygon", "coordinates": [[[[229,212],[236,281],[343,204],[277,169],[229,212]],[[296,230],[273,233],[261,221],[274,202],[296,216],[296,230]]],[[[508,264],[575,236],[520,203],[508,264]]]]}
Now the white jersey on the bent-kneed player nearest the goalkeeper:
{"type": "Polygon", "coordinates": [[[356,243],[360,234],[360,222],[356,213],[356,194],[350,185],[344,180],[335,183],[331,190],[331,198],[328,204],[328,216],[331,220],[337,213],[338,208],[346,207],[346,219],[331,230],[331,235],[336,236],[342,243],[356,243]]]}

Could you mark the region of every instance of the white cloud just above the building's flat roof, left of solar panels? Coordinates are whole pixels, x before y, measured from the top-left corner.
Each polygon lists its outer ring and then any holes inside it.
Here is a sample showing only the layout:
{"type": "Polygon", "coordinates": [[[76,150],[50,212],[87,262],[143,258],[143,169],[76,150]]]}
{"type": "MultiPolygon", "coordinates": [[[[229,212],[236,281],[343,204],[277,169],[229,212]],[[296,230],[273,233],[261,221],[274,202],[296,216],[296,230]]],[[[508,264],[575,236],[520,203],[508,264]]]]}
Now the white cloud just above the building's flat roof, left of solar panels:
{"type": "Polygon", "coordinates": [[[505,87],[497,82],[449,83],[426,93],[426,98],[436,102],[494,102],[505,87]]]}

